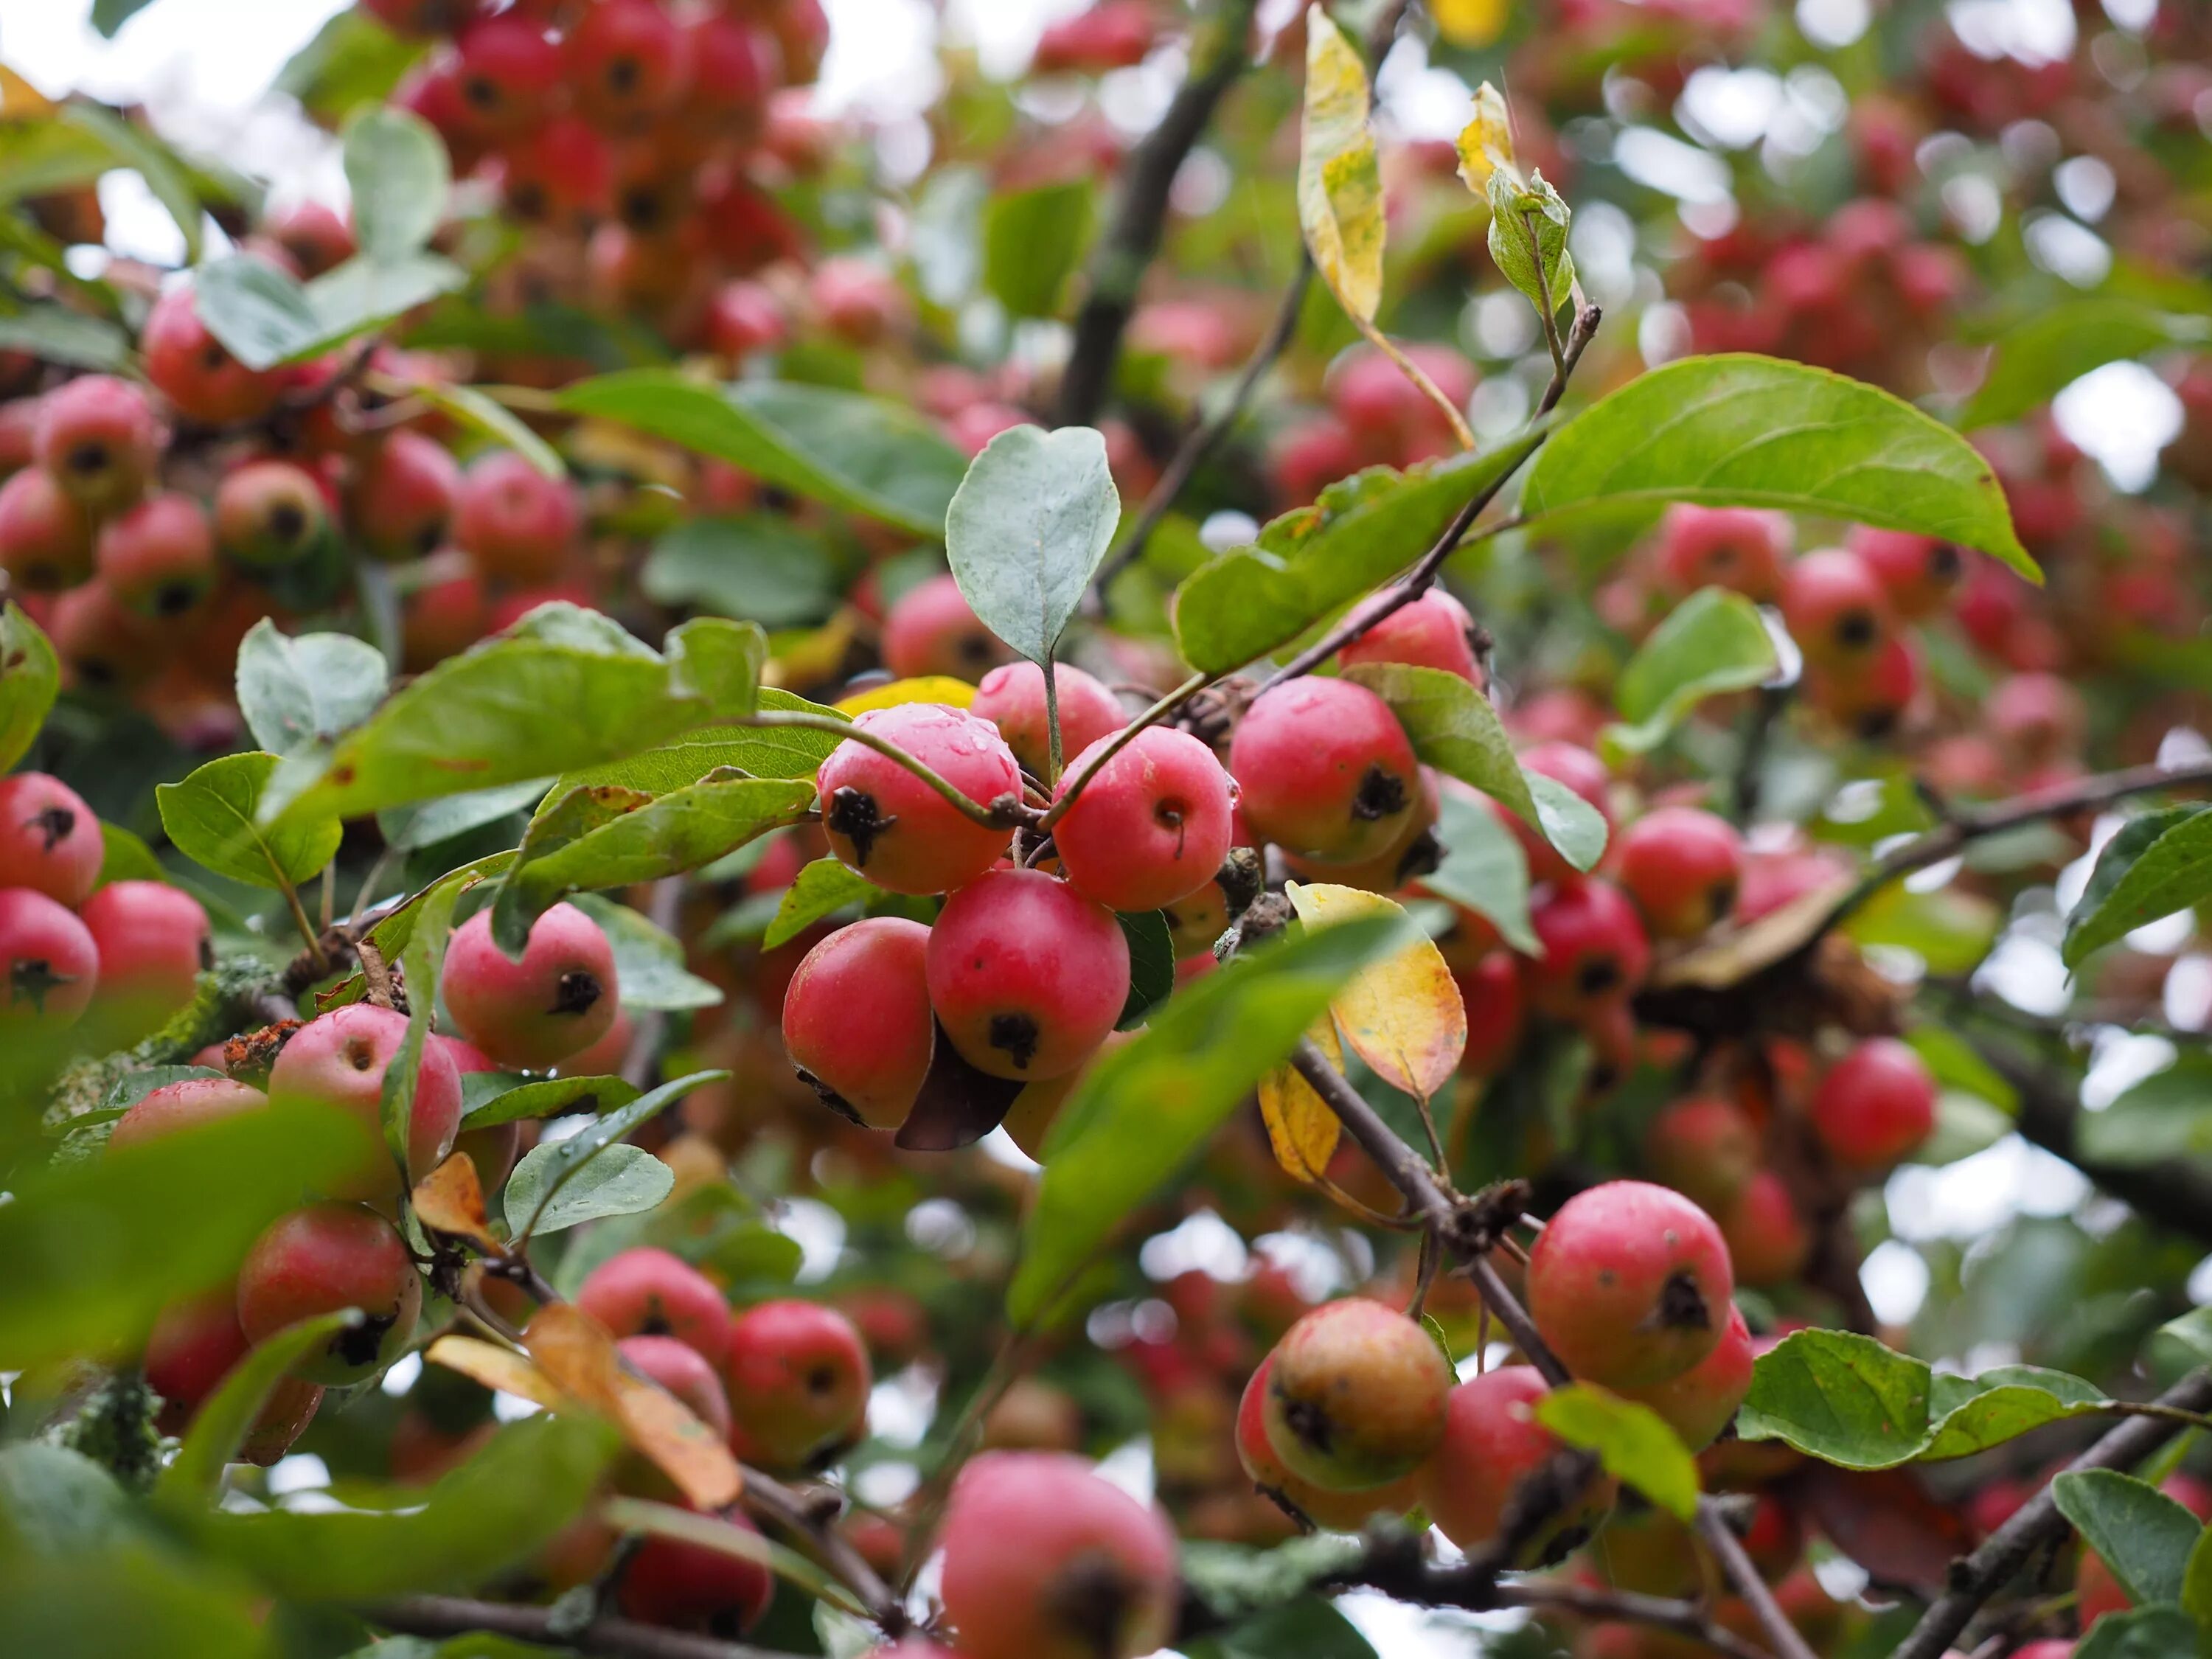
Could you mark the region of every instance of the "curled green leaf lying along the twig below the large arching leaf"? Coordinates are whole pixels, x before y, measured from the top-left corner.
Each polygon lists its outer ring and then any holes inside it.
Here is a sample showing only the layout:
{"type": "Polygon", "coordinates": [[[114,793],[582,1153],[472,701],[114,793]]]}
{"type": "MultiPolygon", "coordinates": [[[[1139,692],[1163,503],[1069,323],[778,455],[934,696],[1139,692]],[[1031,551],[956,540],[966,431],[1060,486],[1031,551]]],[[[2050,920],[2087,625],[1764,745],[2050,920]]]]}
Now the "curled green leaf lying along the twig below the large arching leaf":
{"type": "Polygon", "coordinates": [[[1475,495],[1520,467],[1542,427],[1480,456],[1449,456],[1343,478],[1312,507],[1270,520],[1252,546],[1232,546],[1175,591],[1183,661],[1225,675],[1287,646],[1363,593],[1405,571],[1475,495]]]}

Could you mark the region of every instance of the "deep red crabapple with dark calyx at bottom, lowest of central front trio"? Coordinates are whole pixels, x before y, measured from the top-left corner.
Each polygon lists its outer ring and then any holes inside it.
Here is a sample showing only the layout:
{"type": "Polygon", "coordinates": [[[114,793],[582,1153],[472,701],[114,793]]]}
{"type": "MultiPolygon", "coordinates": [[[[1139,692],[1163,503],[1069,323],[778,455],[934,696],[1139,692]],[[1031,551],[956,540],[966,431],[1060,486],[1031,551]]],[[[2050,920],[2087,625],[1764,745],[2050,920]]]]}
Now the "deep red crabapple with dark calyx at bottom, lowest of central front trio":
{"type": "Polygon", "coordinates": [[[1128,1002],[1113,911],[1037,869],[993,869],[947,898],[925,964],[945,1035],[993,1077],[1073,1071],[1128,1002]]]}

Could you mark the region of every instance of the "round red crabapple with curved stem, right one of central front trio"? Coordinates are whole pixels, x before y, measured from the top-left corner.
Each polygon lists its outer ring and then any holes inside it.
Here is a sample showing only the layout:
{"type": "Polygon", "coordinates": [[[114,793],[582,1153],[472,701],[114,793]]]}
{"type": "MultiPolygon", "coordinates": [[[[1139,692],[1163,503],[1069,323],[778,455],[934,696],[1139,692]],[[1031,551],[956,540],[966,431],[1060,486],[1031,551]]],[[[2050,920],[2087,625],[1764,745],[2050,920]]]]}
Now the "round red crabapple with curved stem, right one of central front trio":
{"type": "Polygon", "coordinates": [[[1110,741],[1084,750],[1060,781],[1055,799],[1086,779],[1053,830],[1062,869],[1106,909],[1190,898],[1230,854],[1237,785],[1190,732],[1148,726],[1104,757],[1110,741]]]}

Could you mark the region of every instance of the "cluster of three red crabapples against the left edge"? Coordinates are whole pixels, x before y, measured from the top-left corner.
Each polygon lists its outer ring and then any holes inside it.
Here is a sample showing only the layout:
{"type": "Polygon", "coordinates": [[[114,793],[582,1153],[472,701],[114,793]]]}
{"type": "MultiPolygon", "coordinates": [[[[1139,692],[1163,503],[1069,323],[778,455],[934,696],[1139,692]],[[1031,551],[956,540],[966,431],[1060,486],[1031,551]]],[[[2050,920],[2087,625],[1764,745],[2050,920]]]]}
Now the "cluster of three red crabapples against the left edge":
{"type": "Polygon", "coordinates": [[[135,1042],[192,1000],[208,914],[159,880],[102,883],[100,818],[44,772],[0,779],[0,1033],[135,1042]]]}

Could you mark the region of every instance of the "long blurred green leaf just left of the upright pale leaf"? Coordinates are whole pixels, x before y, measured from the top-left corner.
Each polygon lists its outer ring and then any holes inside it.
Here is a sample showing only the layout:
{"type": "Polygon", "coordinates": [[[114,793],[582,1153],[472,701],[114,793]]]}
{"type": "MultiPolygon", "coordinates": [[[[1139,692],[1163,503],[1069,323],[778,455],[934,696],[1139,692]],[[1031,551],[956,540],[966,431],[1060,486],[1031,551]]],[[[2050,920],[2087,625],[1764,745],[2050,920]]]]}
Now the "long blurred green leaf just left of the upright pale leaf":
{"type": "Polygon", "coordinates": [[[714,387],[672,369],[628,369],[566,387],[560,405],[916,535],[945,533],[945,507],[967,471],[920,414],[858,392],[783,380],[714,387]]]}

